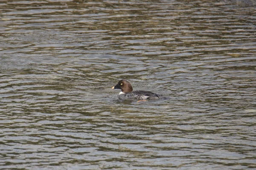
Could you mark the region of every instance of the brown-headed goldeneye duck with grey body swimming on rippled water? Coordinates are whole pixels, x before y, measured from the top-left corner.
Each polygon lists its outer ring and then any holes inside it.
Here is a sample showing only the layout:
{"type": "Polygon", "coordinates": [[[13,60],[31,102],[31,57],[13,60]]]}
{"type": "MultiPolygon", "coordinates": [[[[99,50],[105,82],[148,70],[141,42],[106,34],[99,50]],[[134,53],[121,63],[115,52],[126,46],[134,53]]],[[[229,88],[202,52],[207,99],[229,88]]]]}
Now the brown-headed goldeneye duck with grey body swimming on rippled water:
{"type": "Polygon", "coordinates": [[[118,98],[125,99],[159,99],[159,95],[152,93],[151,91],[132,91],[131,84],[125,80],[120,80],[117,85],[113,86],[112,89],[121,89],[122,91],[118,94],[118,98]]]}

